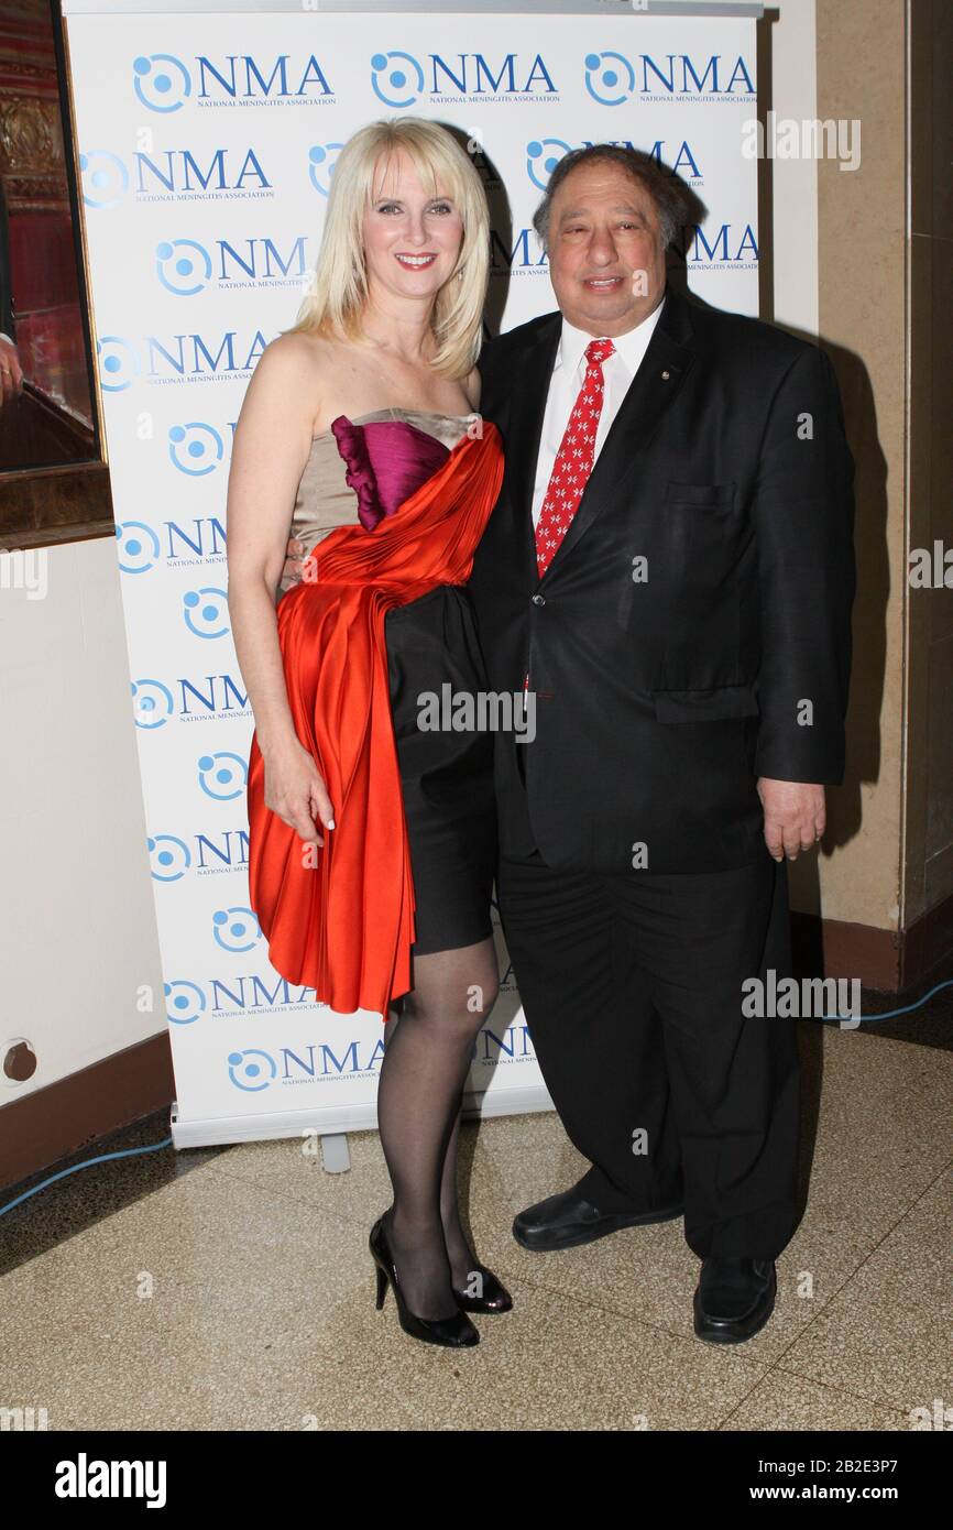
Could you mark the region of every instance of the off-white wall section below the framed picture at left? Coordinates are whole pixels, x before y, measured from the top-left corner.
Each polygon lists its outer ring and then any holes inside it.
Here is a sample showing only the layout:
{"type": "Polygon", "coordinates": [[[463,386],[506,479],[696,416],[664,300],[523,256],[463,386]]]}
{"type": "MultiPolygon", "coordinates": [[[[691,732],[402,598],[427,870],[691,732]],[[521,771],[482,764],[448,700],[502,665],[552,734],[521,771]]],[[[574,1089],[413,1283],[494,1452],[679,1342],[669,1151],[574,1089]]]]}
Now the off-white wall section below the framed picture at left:
{"type": "Polygon", "coordinates": [[[0,1056],[38,1063],[0,1106],[167,1027],[115,540],[44,558],[0,589],[0,1056]]]}

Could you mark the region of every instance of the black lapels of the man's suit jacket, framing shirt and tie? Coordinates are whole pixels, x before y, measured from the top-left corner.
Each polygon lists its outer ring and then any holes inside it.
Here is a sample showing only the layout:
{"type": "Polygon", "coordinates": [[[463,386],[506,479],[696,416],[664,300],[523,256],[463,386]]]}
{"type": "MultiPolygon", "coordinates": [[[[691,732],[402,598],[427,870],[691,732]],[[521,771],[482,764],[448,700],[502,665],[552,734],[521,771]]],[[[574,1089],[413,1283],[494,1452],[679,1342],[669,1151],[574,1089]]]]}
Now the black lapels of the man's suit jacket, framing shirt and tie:
{"type": "MultiPolygon", "coordinates": [[[[538,370],[543,356],[549,356],[549,367],[543,378],[538,378],[535,372],[534,375],[526,376],[526,392],[532,390],[534,398],[531,402],[522,402],[523,428],[519,435],[516,430],[512,433],[519,441],[517,462],[520,464],[520,477],[514,479],[514,496],[519,490],[519,499],[516,499],[516,503],[529,526],[534,574],[535,534],[532,531],[532,485],[535,479],[540,436],[543,431],[543,410],[549,390],[549,376],[552,373],[552,364],[558,347],[561,315],[557,314],[555,320],[557,323],[554,326],[552,343],[546,347],[538,347],[537,361],[534,363],[535,370],[538,370]],[[538,396],[535,396],[537,392],[538,396]],[[529,422],[534,425],[532,430],[528,428],[529,422]],[[529,462],[526,462],[526,457],[529,457],[529,462]]],[[[646,347],[646,355],[642,356],[639,369],[629,384],[629,390],[620,404],[612,425],[609,427],[609,433],[600,448],[598,457],[595,459],[592,473],[589,474],[589,482],[583,490],[583,497],[580,499],[580,506],[572,517],[569,531],[557,548],[552,563],[546,569],[543,578],[534,578],[534,583],[545,584],[546,580],[552,578],[554,569],[557,569],[561,562],[571,555],[572,549],[577,546],[580,539],[584,537],[598,513],[609,503],[618,503],[629,474],[635,471],[639,453],[644,451],[652,441],[652,436],[661,424],[665,410],[675,401],[694,361],[691,334],[691,317],[687,301],[675,292],[672,286],[667,286],[664,308],[659,314],[655,330],[652,332],[649,346],[646,347]]]]}

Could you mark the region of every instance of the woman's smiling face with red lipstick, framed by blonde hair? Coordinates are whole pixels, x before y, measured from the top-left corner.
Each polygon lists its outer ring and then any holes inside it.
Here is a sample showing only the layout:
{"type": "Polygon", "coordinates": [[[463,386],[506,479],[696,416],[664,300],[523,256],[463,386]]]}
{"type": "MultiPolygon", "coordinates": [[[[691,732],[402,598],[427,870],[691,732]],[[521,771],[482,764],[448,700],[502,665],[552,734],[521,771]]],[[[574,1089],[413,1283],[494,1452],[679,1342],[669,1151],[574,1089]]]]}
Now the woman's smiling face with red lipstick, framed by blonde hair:
{"type": "Polygon", "coordinates": [[[463,239],[460,210],[433,182],[422,187],[413,164],[398,151],[375,165],[364,213],[364,257],[370,291],[436,298],[456,266],[463,239]]]}

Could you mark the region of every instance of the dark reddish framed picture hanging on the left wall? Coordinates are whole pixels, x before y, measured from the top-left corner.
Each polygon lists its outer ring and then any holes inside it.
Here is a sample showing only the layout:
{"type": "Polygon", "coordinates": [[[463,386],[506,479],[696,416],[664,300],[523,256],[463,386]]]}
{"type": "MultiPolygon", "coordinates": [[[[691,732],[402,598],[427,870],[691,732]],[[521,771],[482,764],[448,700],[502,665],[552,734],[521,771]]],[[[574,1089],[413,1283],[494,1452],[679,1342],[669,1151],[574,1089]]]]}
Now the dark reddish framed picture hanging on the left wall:
{"type": "Polygon", "coordinates": [[[60,0],[0,0],[0,548],[113,536],[60,0]]]}

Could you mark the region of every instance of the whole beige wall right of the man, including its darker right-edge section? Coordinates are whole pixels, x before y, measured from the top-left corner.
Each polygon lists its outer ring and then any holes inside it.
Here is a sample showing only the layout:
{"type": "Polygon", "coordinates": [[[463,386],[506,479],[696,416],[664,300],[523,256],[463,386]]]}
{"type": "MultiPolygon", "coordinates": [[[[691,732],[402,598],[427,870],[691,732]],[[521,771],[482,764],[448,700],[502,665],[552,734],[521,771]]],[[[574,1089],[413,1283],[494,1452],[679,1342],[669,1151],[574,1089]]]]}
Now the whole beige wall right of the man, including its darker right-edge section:
{"type": "Polygon", "coordinates": [[[953,892],[953,594],[907,583],[910,548],[953,546],[951,23],[948,0],[817,0],[818,115],[860,118],[863,144],[855,173],[818,165],[818,327],[857,456],[858,554],[820,901],[881,929],[953,892]]]}

